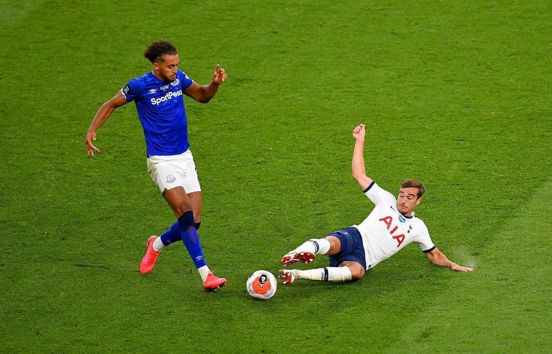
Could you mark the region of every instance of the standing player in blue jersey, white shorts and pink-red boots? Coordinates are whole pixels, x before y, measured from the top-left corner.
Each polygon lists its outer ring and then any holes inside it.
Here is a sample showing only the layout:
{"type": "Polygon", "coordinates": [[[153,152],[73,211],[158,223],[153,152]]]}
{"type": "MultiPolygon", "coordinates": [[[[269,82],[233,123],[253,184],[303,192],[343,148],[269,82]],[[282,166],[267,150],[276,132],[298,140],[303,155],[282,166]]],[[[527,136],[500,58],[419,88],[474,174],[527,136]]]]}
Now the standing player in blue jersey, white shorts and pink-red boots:
{"type": "Polygon", "coordinates": [[[140,263],[140,272],[148,273],[163,247],[182,241],[203,281],[206,291],[219,289],[225,278],[210,271],[197,230],[201,224],[201,188],[188,141],[188,121],[183,95],[200,103],[208,103],[215,96],[226,72],[216,65],[213,79],[199,85],[179,70],[180,59],[176,47],[168,41],[150,44],[144,56],[152,63],[152,70],[129,80],[95,114],[85,144],[87,154],[100,152],[94,146],[95,131],[122,105],[134,102],[147,148],[147,170],[176,215],[177,221],[161,236],[147,239],[146,255],[140,263]]]}

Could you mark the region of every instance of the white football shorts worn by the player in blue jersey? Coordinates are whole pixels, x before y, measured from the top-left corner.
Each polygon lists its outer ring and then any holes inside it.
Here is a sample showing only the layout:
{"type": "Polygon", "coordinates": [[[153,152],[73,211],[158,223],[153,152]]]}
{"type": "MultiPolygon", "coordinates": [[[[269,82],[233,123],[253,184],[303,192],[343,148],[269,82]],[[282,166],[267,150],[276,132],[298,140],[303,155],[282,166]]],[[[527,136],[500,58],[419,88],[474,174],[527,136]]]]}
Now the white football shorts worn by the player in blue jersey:
{"type": "Polygon", "coordinates": [[[201,191],[190,150],[179,155],[150,156],[147,158],[147,171],[161,193],[174,187],[183,187],[186,193],[201,191]]]}

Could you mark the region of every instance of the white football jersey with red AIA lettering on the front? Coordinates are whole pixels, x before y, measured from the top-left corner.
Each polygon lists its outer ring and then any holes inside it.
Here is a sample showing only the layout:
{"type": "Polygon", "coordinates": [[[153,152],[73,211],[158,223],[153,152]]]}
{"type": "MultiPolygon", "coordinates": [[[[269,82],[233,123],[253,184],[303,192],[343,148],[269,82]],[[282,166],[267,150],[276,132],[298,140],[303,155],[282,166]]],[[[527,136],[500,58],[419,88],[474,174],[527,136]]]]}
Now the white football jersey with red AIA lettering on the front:
{"type": "Polygon", "coordinates": [[[360,225],[353,226],[362,236],[367,269],[391,257],[411,242],[416,242],[423,252],[435,248],[426,224],[416,218],[413,212],[412,216],[402,215],[397,210],[397,199],[393,194],[375,182],[365,189],[364,194],[375,204],[375,208],[360,225]]]}

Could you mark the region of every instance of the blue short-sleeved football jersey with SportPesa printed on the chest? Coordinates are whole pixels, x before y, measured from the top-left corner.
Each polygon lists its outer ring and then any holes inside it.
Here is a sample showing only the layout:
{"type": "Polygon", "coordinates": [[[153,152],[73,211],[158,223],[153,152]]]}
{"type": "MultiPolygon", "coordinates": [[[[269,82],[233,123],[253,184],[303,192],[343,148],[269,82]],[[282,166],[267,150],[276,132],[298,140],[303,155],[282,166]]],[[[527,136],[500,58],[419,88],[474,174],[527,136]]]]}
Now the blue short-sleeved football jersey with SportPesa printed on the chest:
{"type": "Polygon", "coordinates": [[[194,81],[178,70],[173,82],[159,80],[153,71],[132,78],[121,88],[134,101],[146,138],[147,156],[178,155],[188,150],[188,124],[182,98],[194,81]]]}

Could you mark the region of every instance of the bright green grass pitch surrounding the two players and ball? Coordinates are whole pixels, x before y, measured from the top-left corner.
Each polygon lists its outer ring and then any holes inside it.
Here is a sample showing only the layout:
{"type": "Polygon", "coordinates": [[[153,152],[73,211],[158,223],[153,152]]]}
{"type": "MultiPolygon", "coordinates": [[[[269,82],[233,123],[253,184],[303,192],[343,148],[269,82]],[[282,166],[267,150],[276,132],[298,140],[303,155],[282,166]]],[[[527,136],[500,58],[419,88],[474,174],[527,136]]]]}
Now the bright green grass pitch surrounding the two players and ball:
{"type": "Polygon", "coordinates": [[[552,351],[550,23],[546,1],[3,1],[0,351],[552,351]],[[181,245],[138,272],[174,220],[132,104],[84,150],[158,38],[199,83],[229,73],[208,105],[185,98],[216,293],[181,245]],[[252,300],[254,270],[371,210],[361,122],[368,175],[421,179],[417,215],[475,271],[409,246],[360,282],[252,300]]]}

